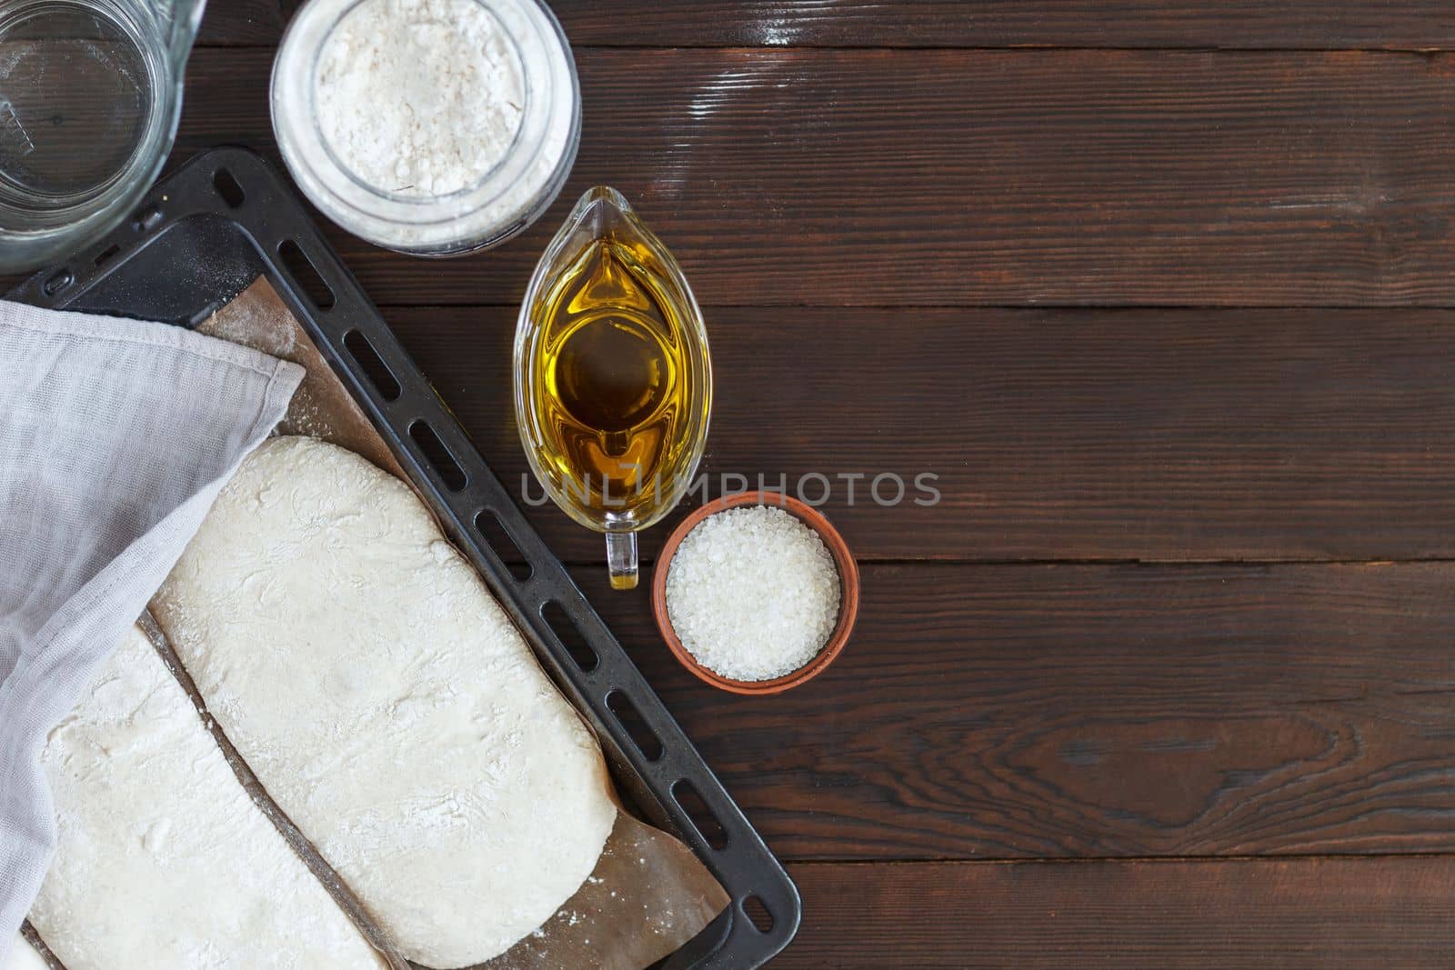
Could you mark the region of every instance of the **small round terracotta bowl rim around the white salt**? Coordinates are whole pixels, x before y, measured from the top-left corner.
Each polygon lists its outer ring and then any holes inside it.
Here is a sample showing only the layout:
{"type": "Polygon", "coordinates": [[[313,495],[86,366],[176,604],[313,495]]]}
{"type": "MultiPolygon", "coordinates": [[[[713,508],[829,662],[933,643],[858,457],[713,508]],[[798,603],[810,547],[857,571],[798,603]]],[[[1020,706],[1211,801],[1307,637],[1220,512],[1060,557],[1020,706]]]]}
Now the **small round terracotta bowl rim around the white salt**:
{"type": "Polygon", "coordinates": [[[813,508],[777,492],[744,492],[709,502],[682,519],[682,524],[678,525],[672,535],[668,537],[666,545],[662,547],[662,556],[658,557],[656,566],[652,569],[652,612],[656,614],[656,628],[662,631],[662,638],[666,640],[666,646],[672,650],[672,656],[675,656],[684,668],[695,673],[698,679],[723,691],[732,691],[733,694],[780,694],[787,691],[790,686],[797,686],[822,673],[828,665],[834,663],[834,657],[840,654],[844,644],[848,643],[848,634],[854,628],[854,618],[858,615],[858,566],[854,563],[854,557],[850,554],[848,545],[844,544],[844,537],[841,537],[838,529],[829,525],[829,521],[819,515],[813,508]],[[842,583],[838,606],[838,625],[834,627],[834,633],[829,636],[828,643],[825,643],[824,649],[818,652],[818,656],[809,660],[805,666],[799,668],[793,673],[773,681],[733,681],[732,678],[725,678],[720,673],[709,670],[698,663],[697,659],[687,652],[687,647],[682,646],[682,641],[678,640],[677,631],[672,630],[672,621],[666,614],[666,573],[672,566],[672,556],[677,553],[677,547],[682,544],[682,540],[693,531],[693,526],[706,519],[709,515],[716,515],[723,509],[732,509],[741,505],[777,506],[818,532],[819,538],[824,540],[824,545],[834,556],[834,564],[838,567],[838,579],[840,583],[842,583]]]}

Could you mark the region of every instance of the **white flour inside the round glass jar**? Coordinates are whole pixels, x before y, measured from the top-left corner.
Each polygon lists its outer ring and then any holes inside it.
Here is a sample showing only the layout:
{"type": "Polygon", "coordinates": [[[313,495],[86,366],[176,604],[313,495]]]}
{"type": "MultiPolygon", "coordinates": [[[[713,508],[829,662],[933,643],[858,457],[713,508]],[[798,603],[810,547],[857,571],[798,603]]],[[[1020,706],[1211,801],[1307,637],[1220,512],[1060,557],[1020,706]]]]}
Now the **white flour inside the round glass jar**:
{"type": "Polygon", "coordinates": [[[319,55],[314,111],[339,163],[375,189],[450,195],[509,151],[519,58],[476,0],[364,0],[319,55]]]}

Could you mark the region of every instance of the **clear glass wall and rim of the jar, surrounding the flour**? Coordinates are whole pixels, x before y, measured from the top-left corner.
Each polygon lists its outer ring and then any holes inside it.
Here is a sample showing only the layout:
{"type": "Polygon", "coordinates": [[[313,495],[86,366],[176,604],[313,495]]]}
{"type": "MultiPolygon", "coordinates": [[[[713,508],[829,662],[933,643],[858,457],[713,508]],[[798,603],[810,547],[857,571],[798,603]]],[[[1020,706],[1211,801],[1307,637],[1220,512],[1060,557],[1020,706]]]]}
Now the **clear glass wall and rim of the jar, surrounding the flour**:
{"type": "Polygon", "coordinates": [[[471,0],[489,15],[522,80],[511,147],[474,185],[447,195],[370,185],[330,147],[316,79],[330,35],[362,3],[310,0],[284,35],[272,73],[272,122],[303,193],[340,227],[413,256],[489,249],[535,221],[560,193],[581,141],[581,87],[566,35],[538,0],[471,0]]]}

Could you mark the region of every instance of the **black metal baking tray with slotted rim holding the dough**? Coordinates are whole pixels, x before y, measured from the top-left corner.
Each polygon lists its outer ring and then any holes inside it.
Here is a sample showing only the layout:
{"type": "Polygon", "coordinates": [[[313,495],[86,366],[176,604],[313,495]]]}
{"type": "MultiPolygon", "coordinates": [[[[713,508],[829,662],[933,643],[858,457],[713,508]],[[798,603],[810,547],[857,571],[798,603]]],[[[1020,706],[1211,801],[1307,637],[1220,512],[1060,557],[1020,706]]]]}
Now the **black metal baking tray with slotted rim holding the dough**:
{"type": "Polygon", "coordinates": [[[262,157],[233,147],[195,156],[160,182],[132,218],[70,260],[35,273],[10,298],[194,327],[259,276],[268,276],[434,506],[450,538],[591,721],[617,785],[653,825],[691,846],[732,897],[717,919],[656,967],[765,964],[797,932],[802,903],[793,881],[262,157]],[[345,343],[354,332],[372,346],[397,388],[381,380],[381,390],[371,380],[377,362],[361,362],[345,343]],[[423,428],[448,455],[420,433],[423,428]],[[420,441],[432,448],[426,451],[420,441]],[[480,531],[479,522],[492,515],[528,570],[512,570],[480,531]],[[575,652],[563,643],[556,633],[560,614],[547,620],[547,606],[563,611],[589,652],[579,643],[575,652]],[[637,733],[645,724],[658,745],[633,739],[615,713],[626,707],[623,700],[636,708],[637,733]],[[698,794],[700,806],[693,804],[690,790],[698,794]],[[684,809],[684,794],[701,826],[684,809]],[[703,806],[716,830],[703,817],[703,806]],[[761,905],[770,919],[761,912],[752,919],[749,905],[754,910],[761,905]],[[770,921],[770,928],[758,928],[770,921]]]}

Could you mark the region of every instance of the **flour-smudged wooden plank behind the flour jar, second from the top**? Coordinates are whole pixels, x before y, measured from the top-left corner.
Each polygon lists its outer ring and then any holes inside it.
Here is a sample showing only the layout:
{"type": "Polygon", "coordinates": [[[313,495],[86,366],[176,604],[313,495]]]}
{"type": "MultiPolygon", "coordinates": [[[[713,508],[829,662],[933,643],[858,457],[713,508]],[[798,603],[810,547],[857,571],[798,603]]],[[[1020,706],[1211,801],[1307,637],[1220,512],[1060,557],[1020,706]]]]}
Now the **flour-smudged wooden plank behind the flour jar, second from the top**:
{"type": "MultiPolygon", "coordinates": [[[[541,223],[404,259],[383,304],[515,302],[583,188],[633,198],[706,304],[1448,304],[1455,60],[1170,51],[582,49],[541,223]]],[[[262,49],[192,60],[180,147],[271,148],[262,49]]]]}

